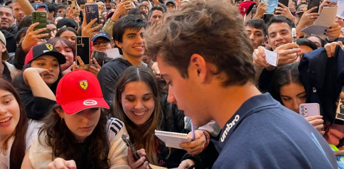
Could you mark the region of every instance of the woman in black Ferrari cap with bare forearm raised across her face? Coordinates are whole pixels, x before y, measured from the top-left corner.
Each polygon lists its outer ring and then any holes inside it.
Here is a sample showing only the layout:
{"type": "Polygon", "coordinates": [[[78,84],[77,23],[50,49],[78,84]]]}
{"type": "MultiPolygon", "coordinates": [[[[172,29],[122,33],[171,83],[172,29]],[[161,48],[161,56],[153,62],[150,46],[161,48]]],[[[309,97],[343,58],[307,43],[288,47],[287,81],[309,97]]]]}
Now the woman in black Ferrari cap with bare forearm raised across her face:
{"type": "Polygon", "coordinates": [[[56,103],[56,87],[62,77],[60,65],[64,63],[66,58],[51,44],[36,45],[30,49],[23,73],[13,81],[29,119],[41,120],[56,103]]]}

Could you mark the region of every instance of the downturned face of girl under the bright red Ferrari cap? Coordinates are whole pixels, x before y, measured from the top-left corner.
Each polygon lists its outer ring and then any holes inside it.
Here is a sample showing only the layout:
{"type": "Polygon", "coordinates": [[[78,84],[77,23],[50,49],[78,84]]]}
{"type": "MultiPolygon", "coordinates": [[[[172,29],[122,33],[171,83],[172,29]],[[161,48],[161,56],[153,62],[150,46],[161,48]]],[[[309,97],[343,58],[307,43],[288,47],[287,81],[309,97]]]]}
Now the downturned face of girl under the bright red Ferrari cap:
{"type": "Polygon", "coordinates": [[[92,134],[100,118],[99,107],[88,108],[73,115],[67,115],[62,109],[57,109],[57,113],[78,142],[85,141],[92,134]]]}

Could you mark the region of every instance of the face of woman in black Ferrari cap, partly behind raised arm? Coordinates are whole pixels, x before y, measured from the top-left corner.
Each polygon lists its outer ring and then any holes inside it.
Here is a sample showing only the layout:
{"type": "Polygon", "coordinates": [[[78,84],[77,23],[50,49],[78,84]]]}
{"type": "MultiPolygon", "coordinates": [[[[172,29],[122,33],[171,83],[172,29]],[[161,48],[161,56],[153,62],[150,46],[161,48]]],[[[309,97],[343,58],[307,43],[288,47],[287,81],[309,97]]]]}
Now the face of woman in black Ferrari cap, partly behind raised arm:
{"type": "Polygon", "coordinates": [[[50,73],[44,72],[43,80],[47,85],[52,85],[57,81],[60,67],[54,56],[43,55],[31,62],[31,68],[47,69],[50,73]]]}

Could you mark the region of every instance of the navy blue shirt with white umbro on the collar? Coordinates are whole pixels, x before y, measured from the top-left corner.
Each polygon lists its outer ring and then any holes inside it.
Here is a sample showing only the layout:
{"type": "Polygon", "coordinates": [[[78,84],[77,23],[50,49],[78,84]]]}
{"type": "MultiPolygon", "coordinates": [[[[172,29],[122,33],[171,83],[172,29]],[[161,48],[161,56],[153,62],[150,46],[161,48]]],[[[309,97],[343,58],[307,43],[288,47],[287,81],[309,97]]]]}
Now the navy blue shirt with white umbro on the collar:
{"type": "Polygon", "coordinates": [[[338,169],[328,143],[269,93],[246,100],[220,135],[213,169],[338,169]]]}

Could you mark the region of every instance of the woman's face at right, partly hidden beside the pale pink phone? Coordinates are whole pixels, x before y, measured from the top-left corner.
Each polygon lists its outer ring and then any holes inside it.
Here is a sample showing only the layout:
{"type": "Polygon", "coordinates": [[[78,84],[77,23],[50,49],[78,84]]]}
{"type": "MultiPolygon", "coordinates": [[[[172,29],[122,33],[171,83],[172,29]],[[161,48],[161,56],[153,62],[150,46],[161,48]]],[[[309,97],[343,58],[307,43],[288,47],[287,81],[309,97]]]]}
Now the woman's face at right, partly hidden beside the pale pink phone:
{"type": "Polygon", "coordinates": [[[306,91],[301,84],[291,83],[281,87],[280,96],[283,104],[296,113],[299,113],[300,104],[306,103],[306,91]]]}

